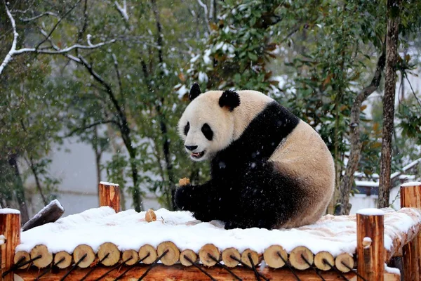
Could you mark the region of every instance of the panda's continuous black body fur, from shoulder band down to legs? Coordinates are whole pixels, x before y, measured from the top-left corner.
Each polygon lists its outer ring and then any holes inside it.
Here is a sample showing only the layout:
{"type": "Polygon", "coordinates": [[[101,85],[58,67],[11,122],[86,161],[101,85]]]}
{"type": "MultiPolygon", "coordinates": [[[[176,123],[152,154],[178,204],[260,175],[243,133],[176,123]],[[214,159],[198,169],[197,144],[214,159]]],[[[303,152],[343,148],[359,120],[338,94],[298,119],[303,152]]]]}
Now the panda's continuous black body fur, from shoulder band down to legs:
{"type": "Polygon", "coordinates": [[[274,228],[288,221],[305,192],[267,160],[299,122],[279,103],[268,103],[213,157],[210,181],[178,188],[175,204],[201,221],[225,221],[225,228],[274,228]]]}

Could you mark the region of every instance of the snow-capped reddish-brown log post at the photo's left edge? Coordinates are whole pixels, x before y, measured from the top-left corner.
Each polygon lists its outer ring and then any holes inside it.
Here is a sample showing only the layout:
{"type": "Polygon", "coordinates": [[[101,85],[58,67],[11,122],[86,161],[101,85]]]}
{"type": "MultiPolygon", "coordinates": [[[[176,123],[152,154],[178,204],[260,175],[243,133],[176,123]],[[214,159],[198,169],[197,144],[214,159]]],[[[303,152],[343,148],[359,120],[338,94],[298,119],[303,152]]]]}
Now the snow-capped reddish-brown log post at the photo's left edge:
{"type": "MultiPolygon", "coordinates": [[[[0,244],[1,274],[13,266],[15,248],[20,244],[20,211],[0,209],[0,235],[4,235],[4,244],[0,244]]],[[[1,275],[0,275],[1,276],[1,275]]],[[[12,281],[13,273],[3,279],[12,281]]]]}

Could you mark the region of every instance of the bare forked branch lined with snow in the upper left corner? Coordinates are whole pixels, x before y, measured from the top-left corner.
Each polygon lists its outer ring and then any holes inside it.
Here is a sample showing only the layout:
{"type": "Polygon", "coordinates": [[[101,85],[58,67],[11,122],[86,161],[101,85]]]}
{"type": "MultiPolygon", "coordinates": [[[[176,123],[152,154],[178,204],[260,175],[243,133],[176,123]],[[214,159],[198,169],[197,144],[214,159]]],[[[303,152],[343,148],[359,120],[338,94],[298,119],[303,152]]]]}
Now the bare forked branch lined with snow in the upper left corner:
{"type": "MultiPolygon", "coordinates": [[[[10,61],[12,60],[13,55],[20,55],[22,53],[42,53],[42,54],[48,54],[48,55],[67,54],[70,51],[73,51],[73,50],[76,50],[76,49],[100,48],[100,47],[105,46],[107,44],[112,44],[116,41],[116,39],[112,39],[112,40],[109,40],[109,41],[100,42],[98,44],[92,44],[91,40],[90,40],[90,37],[88,37],[88,45],[74,44],[74,45],[69,46],[67,48],[59,48],[51,40],[51,33],[53,32],[54,29],[50,32],[50,34],[47,34],[44,30],[41,30],[41,34],[43,34],[44,37],[46,37],[44,41],[49,41],[51,46],[47,46],[45,48],[38,48],[39,46],[36,46],[35,48],[20,48],[20,49],[17,50],[16,44],[18,42],[19,34],[16,31],[15,19],[13,18],[13,15],[12,15],[11,11],[9,11],[5,0],[4,0],[4,6],[6,7],[6,13],[8,15],[8,18],[11,20],[11,25],[12,25],[12,30],[13,30],[13,42],[12,42],[11,50],[7,53],[6,57],[4,58],[3,62],[0,65],[0,75],[3,72],[4,68],[6,67],[6,65],[8,65],[8,63],[10,63],[10,61]]],[[[32,18],[32,19],[34,19],[34,18],[32,18]]],[[[42,41],[42,42],[44,43],[44,41],[42,41]]],[[[68,57],[71,58],[71,59],[74,59],[76,62],[80,63],[79,58],[76,58],[76,57],[74,57],[73,55],[70,55],[70,54],[68,54],[68,57]]]]}

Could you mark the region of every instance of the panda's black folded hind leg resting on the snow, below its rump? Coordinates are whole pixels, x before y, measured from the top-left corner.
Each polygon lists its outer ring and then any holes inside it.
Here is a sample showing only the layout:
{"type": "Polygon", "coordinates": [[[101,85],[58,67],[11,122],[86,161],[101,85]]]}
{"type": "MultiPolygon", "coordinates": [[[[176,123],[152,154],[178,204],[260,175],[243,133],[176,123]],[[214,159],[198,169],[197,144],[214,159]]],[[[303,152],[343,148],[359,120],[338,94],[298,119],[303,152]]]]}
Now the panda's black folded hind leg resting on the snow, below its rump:
{"type": "Polygon", "coordinates": [[[239,204],[225,224],[231,228],[276,228],[302,207],[305,198],[298,182],[279,173],[272,162],[248,165],[239,190],[239,204]]]}

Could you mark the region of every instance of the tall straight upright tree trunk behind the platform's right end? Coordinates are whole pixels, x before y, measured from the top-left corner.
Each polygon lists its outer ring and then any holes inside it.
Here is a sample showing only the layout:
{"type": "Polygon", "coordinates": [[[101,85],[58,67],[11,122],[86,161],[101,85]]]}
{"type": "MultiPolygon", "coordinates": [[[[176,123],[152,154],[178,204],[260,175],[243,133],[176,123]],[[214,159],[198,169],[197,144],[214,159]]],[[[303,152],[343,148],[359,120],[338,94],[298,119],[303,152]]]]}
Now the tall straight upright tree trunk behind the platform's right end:
{"type": "Polygon", "coordinates": [[[392,134],[394,128],[394,100],[396,88],[396,61],[398,58],[399,9],[401,0],[387,0],[386,82],[383,98],[382,156],[380,158],[380,182],[378,208],[389,207],[392,188],[392,134]]]}

